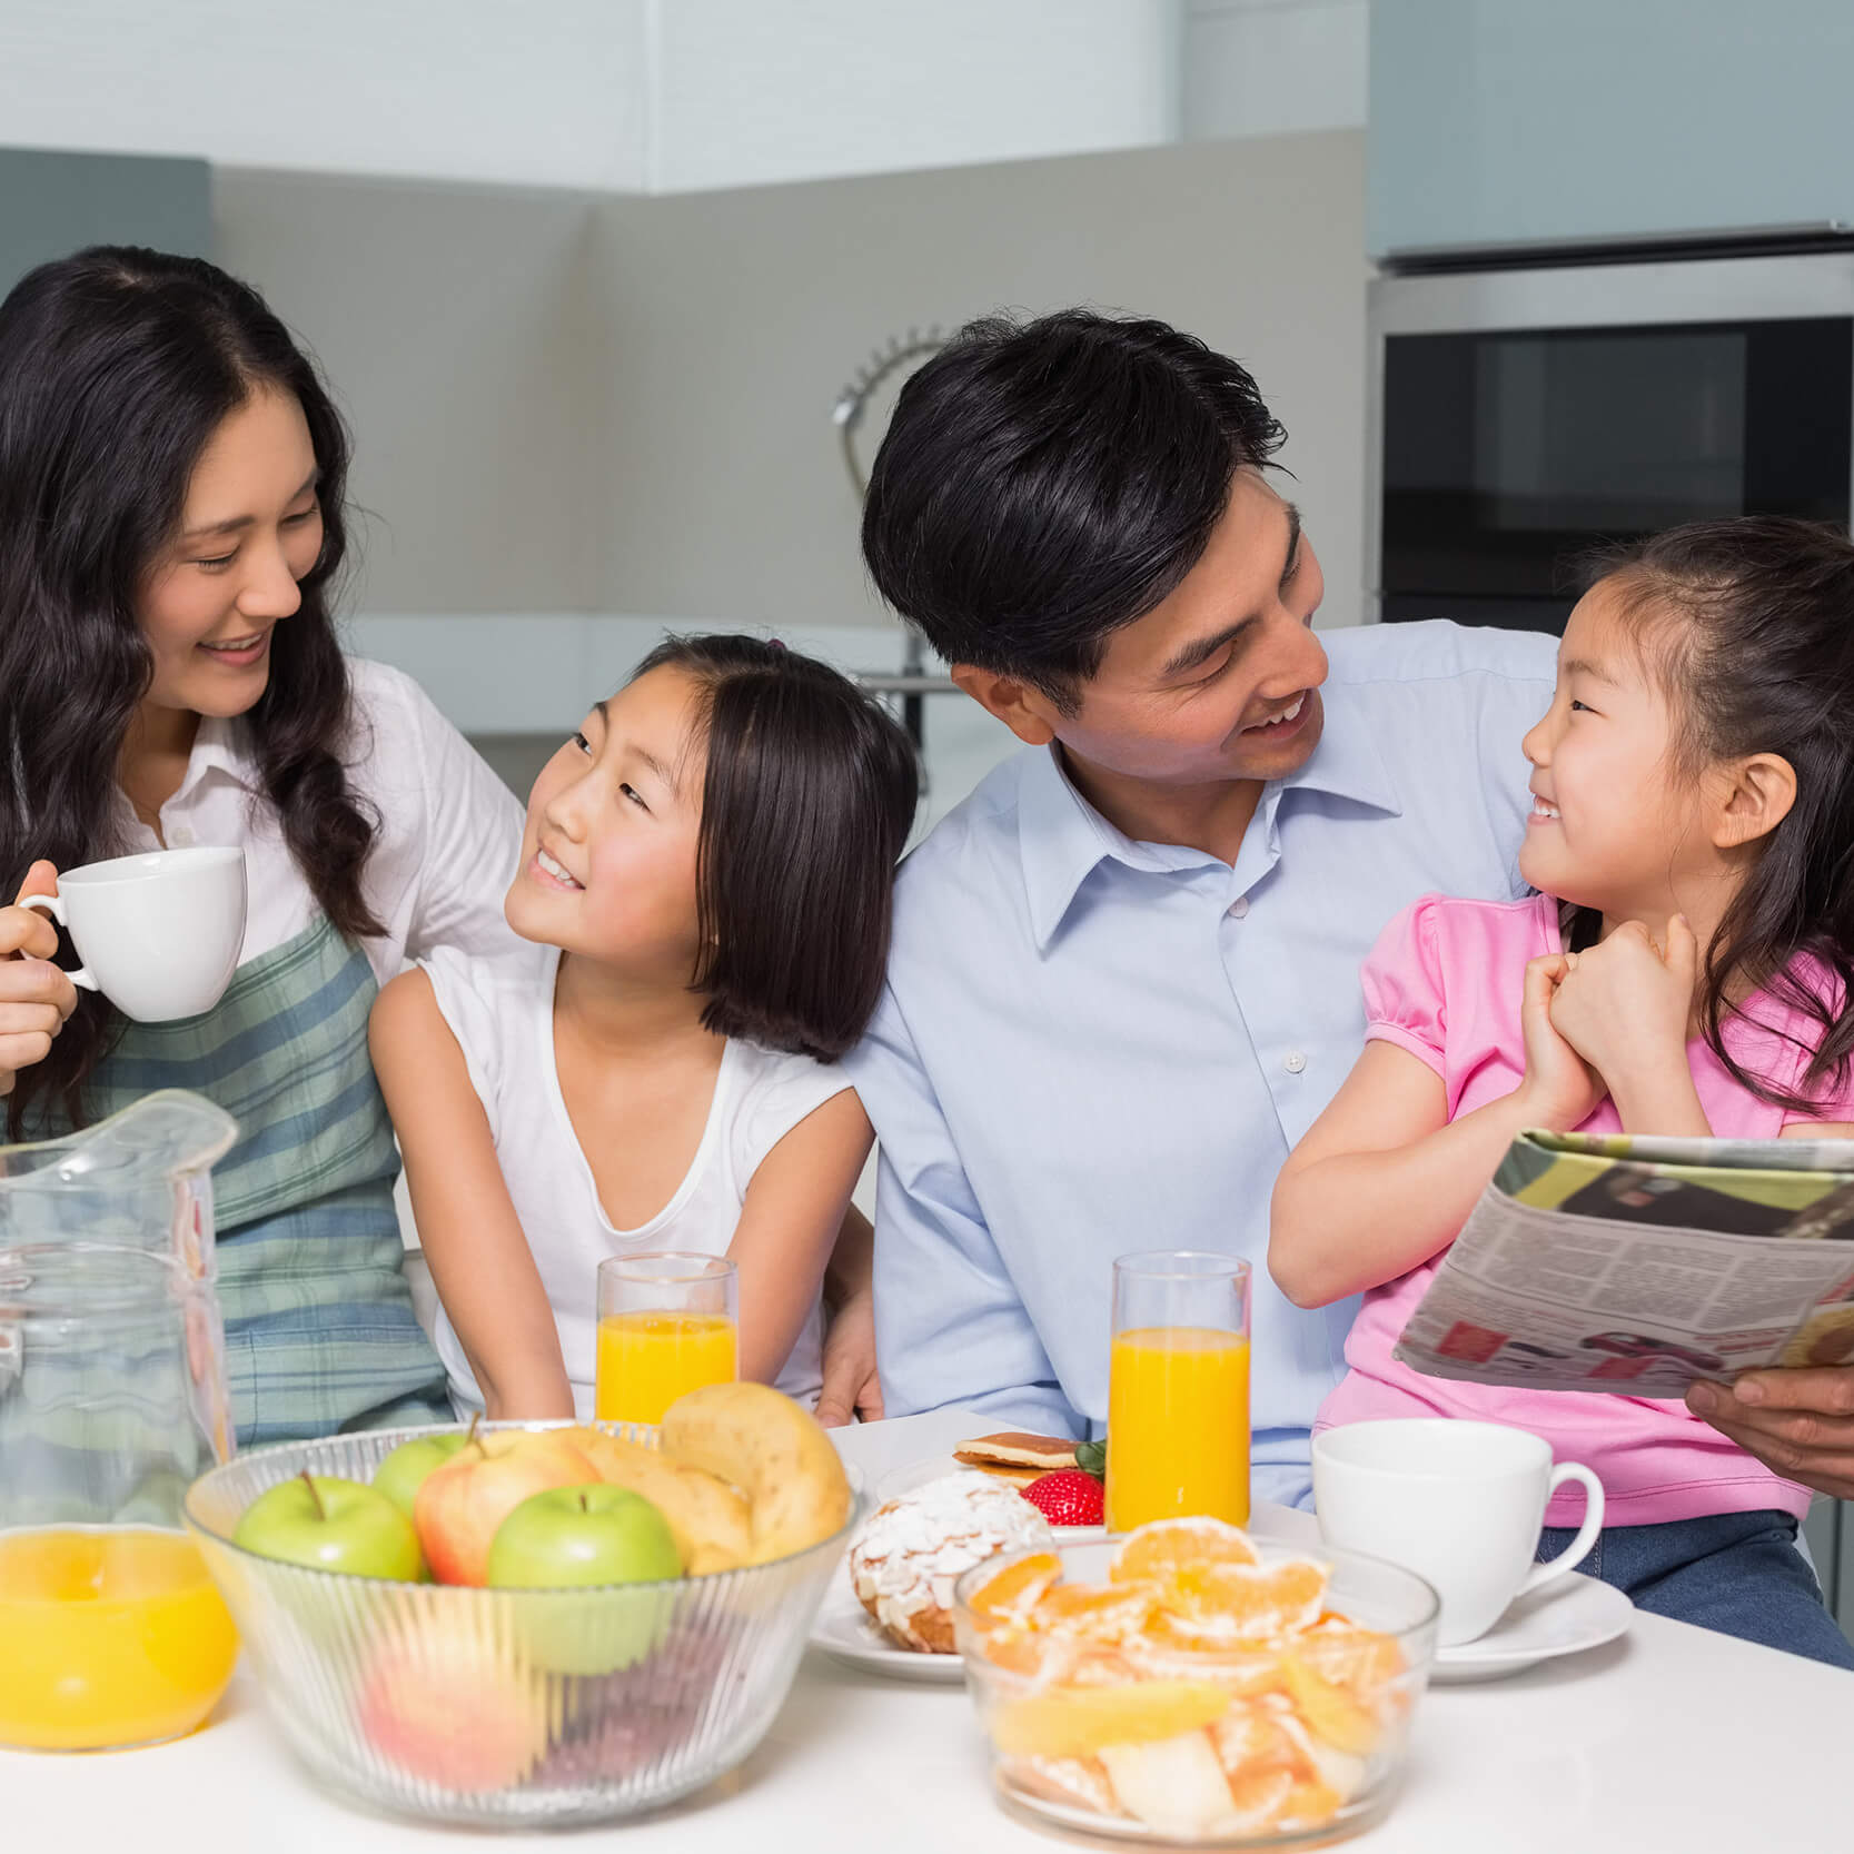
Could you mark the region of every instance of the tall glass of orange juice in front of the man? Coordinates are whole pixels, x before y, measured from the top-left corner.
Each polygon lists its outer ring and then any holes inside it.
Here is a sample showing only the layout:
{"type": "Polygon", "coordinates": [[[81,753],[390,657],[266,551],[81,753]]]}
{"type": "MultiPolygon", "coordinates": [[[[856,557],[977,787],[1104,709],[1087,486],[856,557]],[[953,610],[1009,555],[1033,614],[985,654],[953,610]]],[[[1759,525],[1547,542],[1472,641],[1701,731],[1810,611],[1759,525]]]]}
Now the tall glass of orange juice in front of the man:
{"type": "Polygon", "coordinates": [[[1250,1264],[1151,1250],[1114,1263],[1107,1528],[1250,1517],[1250,1264]]]}

